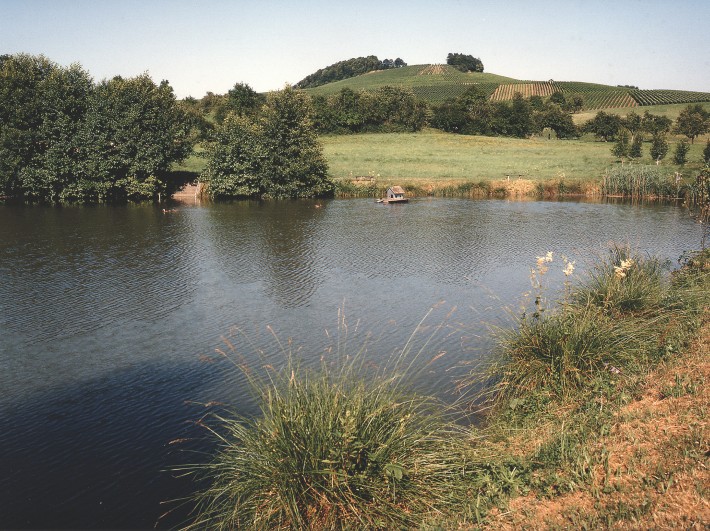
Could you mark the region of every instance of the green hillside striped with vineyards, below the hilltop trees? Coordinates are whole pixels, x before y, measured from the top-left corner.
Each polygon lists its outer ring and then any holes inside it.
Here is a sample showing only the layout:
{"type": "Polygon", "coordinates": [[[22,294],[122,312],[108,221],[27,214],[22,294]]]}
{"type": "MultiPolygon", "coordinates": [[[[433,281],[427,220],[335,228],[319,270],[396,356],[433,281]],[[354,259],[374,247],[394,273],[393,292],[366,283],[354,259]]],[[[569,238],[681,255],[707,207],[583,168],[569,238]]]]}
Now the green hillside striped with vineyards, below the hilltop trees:
{"type": "Polygon", "coordinates": [[[343,88],[355,91],[375,90],[385,85],[410,88],[429,102],[442,103],[455,98],[472,85],[478,86],[493,101],[511,100],[519,92],[525,97],[550,96],[562,92],[565,97],[582,96],[583,109],[614,109],[649,105],[710,102],[710,92],[684,90],[639,90],[580,81],[529,81],[489,73],[463,73],[448,65],[414,65],[378,70],[335,83],[306,89],[311,95],[330,95],[343,88]]]}

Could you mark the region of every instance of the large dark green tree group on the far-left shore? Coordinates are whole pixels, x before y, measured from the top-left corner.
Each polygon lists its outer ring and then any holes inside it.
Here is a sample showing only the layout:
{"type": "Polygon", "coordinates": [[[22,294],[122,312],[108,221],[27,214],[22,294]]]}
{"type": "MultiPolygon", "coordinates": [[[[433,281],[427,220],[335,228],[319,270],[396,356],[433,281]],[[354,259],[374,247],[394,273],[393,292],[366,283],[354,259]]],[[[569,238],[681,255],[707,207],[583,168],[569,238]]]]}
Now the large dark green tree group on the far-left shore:
{"type": "Polygon", "coordinates": [[[194,143],[167,81],[95,83],[79,65],[0,57],[0,195],[25,201],[151,199],[194,143]]]}

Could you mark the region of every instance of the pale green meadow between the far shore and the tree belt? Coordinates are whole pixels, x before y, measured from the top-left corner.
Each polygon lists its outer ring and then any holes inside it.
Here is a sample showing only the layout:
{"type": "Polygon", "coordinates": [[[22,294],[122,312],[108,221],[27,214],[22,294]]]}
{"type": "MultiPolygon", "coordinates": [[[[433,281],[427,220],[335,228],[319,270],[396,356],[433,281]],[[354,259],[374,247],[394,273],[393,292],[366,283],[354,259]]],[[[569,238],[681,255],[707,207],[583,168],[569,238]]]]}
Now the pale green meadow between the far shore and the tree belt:
{"type": "MultiPolygon", "coordinates": [[[[425,130],[327,136],[322,139],[330,173],[335,178],[379,176],[406,181],[475,181],[561,179],[590,181],[618,164],[611,143],[589,140],[516,139],[464,136],[425,130]]],[[[705,140],[691,146],[690,161],[699,161],[705,140]]],[[[670,159],[670,155],[668,157],[670,159]]],[[[643,164],[652,164],[644,145],[643,164]]],[[[665,167],[672,166],[664,161],[665,167]]],[[[686,174],[699,168],[689,164],[686,174]]]]}

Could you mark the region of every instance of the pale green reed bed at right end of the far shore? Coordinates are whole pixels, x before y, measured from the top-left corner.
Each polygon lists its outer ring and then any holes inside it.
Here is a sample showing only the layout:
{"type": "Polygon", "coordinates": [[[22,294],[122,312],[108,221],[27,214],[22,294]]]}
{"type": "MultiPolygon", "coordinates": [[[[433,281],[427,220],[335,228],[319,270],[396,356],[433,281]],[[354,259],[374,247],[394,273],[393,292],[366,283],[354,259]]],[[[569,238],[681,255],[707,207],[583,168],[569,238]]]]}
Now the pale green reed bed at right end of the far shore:
{"type": "Polygon", "coordinates": [[[607,170],[602,194],[634,198],[677,197],[678,185],[661,168],[627,164],[607,170]]]}

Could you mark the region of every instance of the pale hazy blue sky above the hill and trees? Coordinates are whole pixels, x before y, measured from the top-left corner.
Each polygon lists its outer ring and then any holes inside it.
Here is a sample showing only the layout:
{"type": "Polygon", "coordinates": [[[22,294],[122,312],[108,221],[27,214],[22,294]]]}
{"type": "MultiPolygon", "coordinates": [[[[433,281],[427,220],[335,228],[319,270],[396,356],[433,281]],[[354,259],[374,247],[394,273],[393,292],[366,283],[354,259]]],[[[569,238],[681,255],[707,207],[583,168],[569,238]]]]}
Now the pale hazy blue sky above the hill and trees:
{"type": "Polygon", "coordinates": [[[710,0],[0,0],[0,54],[148,72],[178,97],[297,83],[376,55],[518,79],[710,92],[710,0]]]}

